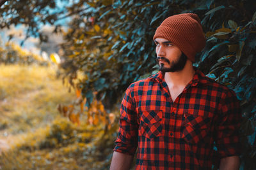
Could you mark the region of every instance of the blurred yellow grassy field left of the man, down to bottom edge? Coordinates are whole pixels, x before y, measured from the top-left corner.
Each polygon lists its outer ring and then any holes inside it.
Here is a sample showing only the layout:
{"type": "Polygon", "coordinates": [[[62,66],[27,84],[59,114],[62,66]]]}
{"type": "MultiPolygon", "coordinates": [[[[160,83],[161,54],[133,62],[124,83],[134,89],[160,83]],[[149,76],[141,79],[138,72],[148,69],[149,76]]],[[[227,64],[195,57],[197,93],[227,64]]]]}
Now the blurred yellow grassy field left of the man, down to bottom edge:
{"type": "Polygon", "coordinates": [[[75,98],[53,67],[0,65],[0,169],[108,169],[116,126],[70,123],[75,98]]]}

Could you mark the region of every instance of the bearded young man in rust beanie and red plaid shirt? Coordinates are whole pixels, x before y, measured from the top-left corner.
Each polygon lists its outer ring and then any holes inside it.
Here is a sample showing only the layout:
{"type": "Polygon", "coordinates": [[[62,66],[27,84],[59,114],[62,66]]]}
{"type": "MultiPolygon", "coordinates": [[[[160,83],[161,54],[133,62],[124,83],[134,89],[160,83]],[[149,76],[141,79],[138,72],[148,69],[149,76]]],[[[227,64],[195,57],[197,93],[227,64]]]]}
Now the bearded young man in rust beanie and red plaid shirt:
{"type": "Polygon", "coordinates": [[[121,105],[111,170],[239,169],[241,121],[236,94],[193,67],[205,46],[196,14],[166,18],[154,35],[160,72],[132,83],[121,105]]]}

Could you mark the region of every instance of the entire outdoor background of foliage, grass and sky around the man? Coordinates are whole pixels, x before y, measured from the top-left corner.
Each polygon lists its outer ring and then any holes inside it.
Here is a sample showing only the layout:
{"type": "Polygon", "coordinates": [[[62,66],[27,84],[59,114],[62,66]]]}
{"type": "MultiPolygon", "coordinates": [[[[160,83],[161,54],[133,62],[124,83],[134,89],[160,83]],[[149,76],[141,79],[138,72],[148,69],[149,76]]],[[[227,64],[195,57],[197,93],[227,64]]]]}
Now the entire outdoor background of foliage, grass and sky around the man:
{"type": "Polygon", "coordinates": [[[0,4],[0,169],[109,169],[125,89],[157,73],[154,32],[186,12],[207,38],[194,66],[236,92],[240,169],[256,169],[256,1],[0,4]]]}

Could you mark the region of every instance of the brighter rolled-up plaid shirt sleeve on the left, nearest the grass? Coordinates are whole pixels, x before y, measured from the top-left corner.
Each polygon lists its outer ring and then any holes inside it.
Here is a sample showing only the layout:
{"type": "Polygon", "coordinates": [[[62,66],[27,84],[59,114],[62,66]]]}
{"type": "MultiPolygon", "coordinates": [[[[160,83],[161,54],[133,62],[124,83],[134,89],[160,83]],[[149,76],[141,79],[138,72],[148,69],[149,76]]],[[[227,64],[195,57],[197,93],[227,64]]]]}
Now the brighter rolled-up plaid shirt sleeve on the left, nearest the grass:
{"type": "Polygon", "coordinates": [[[120,108],[120,127],[115,141],[115,152],[134,155],[138,146],[138,122],[136,104],[131,95],[131,87],[126,92],[120,108]]]}

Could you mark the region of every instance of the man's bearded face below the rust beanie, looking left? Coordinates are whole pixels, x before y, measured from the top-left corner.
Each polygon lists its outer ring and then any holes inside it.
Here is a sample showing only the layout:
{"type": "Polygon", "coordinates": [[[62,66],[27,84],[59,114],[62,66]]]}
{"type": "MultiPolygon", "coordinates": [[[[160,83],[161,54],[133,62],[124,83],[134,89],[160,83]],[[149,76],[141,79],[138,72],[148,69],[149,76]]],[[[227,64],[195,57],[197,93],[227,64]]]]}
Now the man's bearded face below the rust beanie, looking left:
{"type": "Polygon", "coordinates": [[[155,43],[159,71],[176,72],[184,69],[187,57],[176,45],[164,38],[156,38],[155,43]]]}

